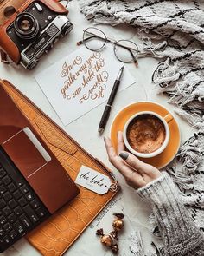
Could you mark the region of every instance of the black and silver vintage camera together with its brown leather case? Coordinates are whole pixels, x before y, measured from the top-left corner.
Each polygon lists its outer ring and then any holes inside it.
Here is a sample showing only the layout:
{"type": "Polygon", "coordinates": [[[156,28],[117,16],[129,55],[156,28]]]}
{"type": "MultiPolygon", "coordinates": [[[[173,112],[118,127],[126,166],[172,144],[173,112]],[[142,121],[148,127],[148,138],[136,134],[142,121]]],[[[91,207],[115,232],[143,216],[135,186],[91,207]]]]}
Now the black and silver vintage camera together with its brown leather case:
{"type": "Polygon", "coordinates": [[[42,54],[73,29],[67,14],[56,0],[26,1],[0,28],[3,54],[25,69],[34,69],[42,54]]]}

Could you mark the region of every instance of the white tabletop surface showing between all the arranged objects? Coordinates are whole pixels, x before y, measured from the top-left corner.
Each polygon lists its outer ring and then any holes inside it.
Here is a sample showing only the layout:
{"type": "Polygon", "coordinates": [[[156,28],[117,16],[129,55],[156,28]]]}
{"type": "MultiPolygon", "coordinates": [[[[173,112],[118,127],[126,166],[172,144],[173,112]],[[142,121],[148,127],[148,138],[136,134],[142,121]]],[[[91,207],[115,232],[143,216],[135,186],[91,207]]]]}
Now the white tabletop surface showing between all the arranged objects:
{"type": "MultiPolygon", "coordinates": [[[[45,95],[43,95],[37,82],[35,82],[34,75],[38,74],[41,70],[48,68],[48,66],[55,61],[60,60],[63,56],[67,56],[72,53],[74,49],[77,49],[76,42],[82,39],[83,29],[92,25],[86,21],[85,17],[80,14],[80,7],[76,0],[69,3],[70,19],[74,25],[73,31],[60,42],[54,45],[54,49],[49,52],[48,56],[44,56],[41,59],[38,67],[33,71],[24,70],[21,67],[7,66],[0,63],[0,77],[2,79],[8,79],[10,82],[16,85],[18,89],[22,91],[24,95],[27,95],[35,104],[41,108],[47,115],[49,115],[61,128],[64,128],[67,133],[73,136],[73,139],[78,141],[80,145],[89,151],[93,156],[98,157],[104,161],[109,167],[112,165],[108,162],[105,154],[105,146],[103,137],[99,137],[97,129],[99,125],[100,117],[105,108],[105,103],[98,108],[94,108],[88,114],[82,116],[77,121],[74,121],[67,127],[64,127],[59,117],[54,112],[54,109],[49,104],[45,95]]],[[[118,39],[131,39],[135,42],[139,42],[137,34],[134,29],[123,25],[119,27],[101,26],[102,30],[109,37],[116,40],[118,39]]],[[[112,51],[113,54],[113,51],[112,51]]],[[[127,69],[131,71],[131,75],[135,77],[135,84],[130,88],[118,93],[116,101],[114,102],[114,108],[108,122],[108,126],[105,128],[105,136],[109,135],[110,126],[114,116],[121,108],[124,108],[127,104],[137,101],[155,101],[163,104],[166,108],[169,108],[173,112],[174,106],[169,105],[165,96],[156,95],[155,85],[151,84],[151,75],[156,69],[157,60],[153,58],[143,58],[139,60],[139,67],[136,68],[134,64],[126,65],[127,69]]],[[[68,113],[69,110],[67,110],[68,113]]],[[[72,111],[72,110],[70,110],[72,111]]],[[[182,141],[188,139],[190,135],[194,133],[193,128],[190,128],[184,121],[178,116],[175,116],[179,122],[182,131],[182,141]]],[[[113,168],[112,168],[113,169],[113,168]]],[[[128,187],[123,177],[114,170],[120,185],[122,186],[122,192],[112,200],[112,202],[105,208],[105,210],[99,214],[92,225],[89,226],[86,231],[80,236],[80,238],[73,244],[73,246],[67,251],[68,256],[108,256],[112,255],[110,251],[105,250],[99,243],[99,238],[95,236],[95,231],[99,227],[104,227],[106,231],[110,231],[112,226],[112,213],[123,211],[125,214],[125,228],[124,232],[120,235],[119,256],[129,256],[131,252],[129,250],[128,238],[132,231],[140,231],[143,239],[143,246],[146,253],[152,251],[150,242],[152,237],[150,235],[150,224],[148,222],[148,215],[150,208],[137,197],[137,194],[133,189],[128,187]]],[[[154,252],[154,251],[152,251],[154,252]]],[[[39,256],[38,253],[29,243],[22,239],[11,247],[7,252],[2,254],[3,256],[39,256]]]]}

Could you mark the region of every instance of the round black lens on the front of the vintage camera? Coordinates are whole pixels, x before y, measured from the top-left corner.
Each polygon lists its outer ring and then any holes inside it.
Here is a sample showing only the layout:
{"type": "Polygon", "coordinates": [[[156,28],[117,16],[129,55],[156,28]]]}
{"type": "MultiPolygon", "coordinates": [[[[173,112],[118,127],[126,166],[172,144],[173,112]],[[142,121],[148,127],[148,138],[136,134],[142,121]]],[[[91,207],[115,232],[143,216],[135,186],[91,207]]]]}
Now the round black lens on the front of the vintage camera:
{"type": "Polygon", "coordinates": [[[32,40],[39,34],[39,23],[35,16],[22,12],[14,22],[16,35],[22,39],[32,40]]]}

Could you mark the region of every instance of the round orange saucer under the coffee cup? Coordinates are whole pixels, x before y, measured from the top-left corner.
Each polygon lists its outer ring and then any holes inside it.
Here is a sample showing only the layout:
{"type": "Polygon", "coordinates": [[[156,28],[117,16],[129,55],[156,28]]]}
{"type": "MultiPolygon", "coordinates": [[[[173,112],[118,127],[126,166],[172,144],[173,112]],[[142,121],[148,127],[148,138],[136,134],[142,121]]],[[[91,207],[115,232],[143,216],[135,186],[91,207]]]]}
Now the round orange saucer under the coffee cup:
{"type": "MultiPolygon", "coordinates": [[[[153,111],[159,115],[165,116],[169,111],[164,108],[162,105],[157,104],[156,102],[134,102],[131,105],[123,108],[118,115],[116,115],[114,121],[112,122],[111,128],[111,140],[114,148],[117,148],[117,132],[123,131],[124,124],[126,121],[131,118],[131,115],[134,115],[141,111],[153,111]]],[[[175,118],[173,121],[169,122],[170,138],[167,148],[163,150],[161,154],[156,155],[152,158],[140,158],[142,161],[153,165],[159,169],[167,166],[170,161],[175,158],[178,149],[180,147],[180,131],[175,118]]]]}

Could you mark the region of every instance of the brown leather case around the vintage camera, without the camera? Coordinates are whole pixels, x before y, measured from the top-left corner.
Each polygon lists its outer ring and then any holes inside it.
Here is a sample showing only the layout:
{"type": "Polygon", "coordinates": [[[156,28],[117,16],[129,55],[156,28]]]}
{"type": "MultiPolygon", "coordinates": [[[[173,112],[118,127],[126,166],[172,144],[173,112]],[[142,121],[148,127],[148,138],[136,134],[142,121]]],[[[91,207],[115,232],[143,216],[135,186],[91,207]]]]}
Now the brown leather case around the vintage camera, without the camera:
{"type": "MultiPolygon", "coordinates": [[[[6,30],[10,26],[10,23],[14,22],[16,16],[23,12],[23,10],[25,10],[29,4],[34,1],[35,0],[4,0],[0,2],[0,50],[10,56],[11,60],[16,62],[16,64],[20,62],[20,53],[16,44],[10,39],[10,36],[7,35],[6,30]],[[10,18],[6,18],[4,16],[4,10],[7,6],[13,6],[16,9],[16,13],[10,16],[10,18]]],[[[54,10],[56,13],[68,13],[68,10],[56,0],[38,0],[38,2],[44,3],[49,9],[54,10]]]]}

